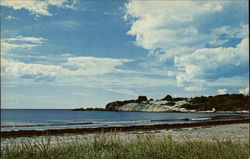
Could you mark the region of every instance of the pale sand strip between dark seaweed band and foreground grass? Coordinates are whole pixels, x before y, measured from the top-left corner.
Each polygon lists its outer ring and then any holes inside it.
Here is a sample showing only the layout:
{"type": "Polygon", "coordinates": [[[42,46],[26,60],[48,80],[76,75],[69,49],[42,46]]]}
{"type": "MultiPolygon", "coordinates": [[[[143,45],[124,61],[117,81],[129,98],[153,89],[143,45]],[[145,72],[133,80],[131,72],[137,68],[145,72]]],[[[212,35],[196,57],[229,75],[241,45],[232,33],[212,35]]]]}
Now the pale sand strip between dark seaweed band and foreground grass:
{"type": "Polygon", "coordinates": [[[70,142],[92,142],[96,137],[104,136],[107,139],[119,138],[122,141],[133,141],[138,136],[153,135],[158,139],[165,137],[171,138],[173,141],[214,141],[214,140],[231,140],[231,141],[249,141],[249,123],[226,124],[226,125],[210,125],[190,128],[173,128],[150,131],[132,131],[119,133],[91,133],[91,134],[64,134],[55,136],[33,136],[33,137],[10,137],[1,138],[1,146],[8,144],[20,144],[22,141],[43,142],[50,139],[51,143],[70,143],[70,142]]]}

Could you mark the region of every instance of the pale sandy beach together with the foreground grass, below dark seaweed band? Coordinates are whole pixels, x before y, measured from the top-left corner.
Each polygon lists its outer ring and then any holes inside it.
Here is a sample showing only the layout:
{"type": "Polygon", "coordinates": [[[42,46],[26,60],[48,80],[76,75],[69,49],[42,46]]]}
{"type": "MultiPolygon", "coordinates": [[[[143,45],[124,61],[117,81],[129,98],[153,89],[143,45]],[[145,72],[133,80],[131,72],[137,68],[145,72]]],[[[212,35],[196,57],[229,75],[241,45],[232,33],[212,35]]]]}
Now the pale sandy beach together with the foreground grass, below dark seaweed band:
{"type": "Polygon", "coordinates": [[[249,122],[123,132],[1,138],[1,158],[242,158],[249,122]]]}

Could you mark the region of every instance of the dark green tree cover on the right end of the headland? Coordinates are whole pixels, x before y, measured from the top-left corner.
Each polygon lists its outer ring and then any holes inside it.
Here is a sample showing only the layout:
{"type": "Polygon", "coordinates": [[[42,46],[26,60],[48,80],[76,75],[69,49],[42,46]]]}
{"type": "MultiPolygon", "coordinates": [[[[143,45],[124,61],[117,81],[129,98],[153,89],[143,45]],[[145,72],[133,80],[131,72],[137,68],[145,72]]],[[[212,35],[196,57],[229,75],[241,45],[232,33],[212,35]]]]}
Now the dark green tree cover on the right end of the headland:
{"type": "Polygon", "coordinates": [[[241,111],[249,110],[249,96],[243,94],[224,94],[209,97],[195,97],[189,100],[188,104],[181,107],[186,109],[195,109],[198,111],[211,110],[217,111],[241,111]]]}

